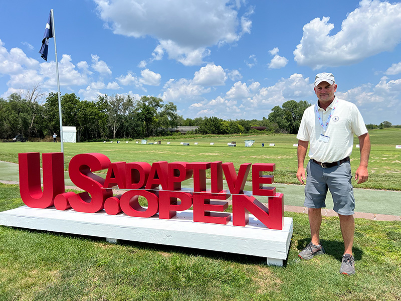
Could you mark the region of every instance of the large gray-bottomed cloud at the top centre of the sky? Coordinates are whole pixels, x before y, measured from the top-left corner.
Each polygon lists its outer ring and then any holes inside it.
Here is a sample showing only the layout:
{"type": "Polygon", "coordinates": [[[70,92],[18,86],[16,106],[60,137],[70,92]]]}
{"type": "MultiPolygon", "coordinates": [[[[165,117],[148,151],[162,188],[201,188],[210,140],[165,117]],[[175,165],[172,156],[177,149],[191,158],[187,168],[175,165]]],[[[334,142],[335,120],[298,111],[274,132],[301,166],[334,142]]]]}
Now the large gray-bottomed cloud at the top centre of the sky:
{"type": "Polygon", "coordinates": [[[233,43],[250,33],[252,8],[239,16],[231,0],[95,0],[99,17],[113,33],[150,36],[159,45],[150,60],[168,57],[191,66],[203,63],[208,47],[233,43]],[[216,30],[218,29],[218,30],[216,30]]]}

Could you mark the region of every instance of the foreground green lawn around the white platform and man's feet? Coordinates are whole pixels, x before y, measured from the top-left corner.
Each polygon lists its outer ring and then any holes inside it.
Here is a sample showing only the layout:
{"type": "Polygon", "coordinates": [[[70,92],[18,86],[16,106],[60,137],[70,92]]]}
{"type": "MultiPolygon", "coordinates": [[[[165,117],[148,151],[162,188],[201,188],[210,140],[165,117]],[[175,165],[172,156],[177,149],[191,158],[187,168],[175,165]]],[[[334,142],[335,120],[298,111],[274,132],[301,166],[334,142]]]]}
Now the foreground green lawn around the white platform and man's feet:
{"type": "MultiPolygon", "coordinates": [[[[157,147],[157,146],[154,146],[157,147]]],[[[0,211],[23,205],[0,184],[0,211]]],[[[0,226],[0,300],[400,300],[399,222],[356,219],[356,274],[338,272],[338,219],[323,217],[326,254],[301,260],[305,214],[294,221],[284,267],[265,258],[0,226]]]]}

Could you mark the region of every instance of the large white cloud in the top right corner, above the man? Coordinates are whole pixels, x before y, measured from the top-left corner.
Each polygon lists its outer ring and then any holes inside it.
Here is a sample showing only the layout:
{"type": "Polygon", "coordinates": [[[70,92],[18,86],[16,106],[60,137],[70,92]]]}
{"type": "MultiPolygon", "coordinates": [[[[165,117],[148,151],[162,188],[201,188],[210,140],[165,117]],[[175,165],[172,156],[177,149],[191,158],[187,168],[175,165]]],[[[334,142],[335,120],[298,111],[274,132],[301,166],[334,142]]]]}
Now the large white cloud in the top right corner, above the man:
{"type": "Polygon", "coordinates": [[[347,15],[341,30],[330,35],[329,17],[316,18],[303,27],[294,60],[298,65],[319,69],[357,63],[401,42],[401,3],[362,0],[347,15]]]}

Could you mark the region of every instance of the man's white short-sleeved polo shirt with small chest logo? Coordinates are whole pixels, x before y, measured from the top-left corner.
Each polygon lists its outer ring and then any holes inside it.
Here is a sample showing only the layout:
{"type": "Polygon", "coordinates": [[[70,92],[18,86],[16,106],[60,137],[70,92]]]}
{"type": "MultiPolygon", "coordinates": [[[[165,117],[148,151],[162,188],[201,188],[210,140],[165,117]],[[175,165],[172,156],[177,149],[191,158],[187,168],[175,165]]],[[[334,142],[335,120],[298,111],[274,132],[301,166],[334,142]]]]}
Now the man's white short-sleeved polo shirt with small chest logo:
{"type": "Polygon", "coordinates": [[[323,123],[330,116],[336,100],[338,103],[325,132],[317,118],[315,105],[304,111],[299,126],[297,139],[310,142],[309,158],[319,162],[336,162],[348,157],[352,153],[353,135],[367,133],[365,122],[356,105],[337,97],[334,97],[326,110],[318,107],[323,123]],[[320,140],[320,134],[328,136],[328,141],[320,140]]]}

